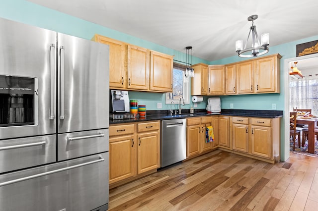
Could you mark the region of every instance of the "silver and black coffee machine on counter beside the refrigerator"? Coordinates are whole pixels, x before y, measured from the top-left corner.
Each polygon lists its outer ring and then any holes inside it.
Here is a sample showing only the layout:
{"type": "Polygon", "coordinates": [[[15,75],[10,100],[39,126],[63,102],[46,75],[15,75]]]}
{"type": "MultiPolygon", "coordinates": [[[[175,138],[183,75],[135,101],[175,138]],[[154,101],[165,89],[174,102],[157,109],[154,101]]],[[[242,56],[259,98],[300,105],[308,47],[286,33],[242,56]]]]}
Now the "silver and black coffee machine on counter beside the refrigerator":
{"type": "Polygon", "coordinates": [[[129,112],[128,91],[110,91],[110,112],[129,112]]]}

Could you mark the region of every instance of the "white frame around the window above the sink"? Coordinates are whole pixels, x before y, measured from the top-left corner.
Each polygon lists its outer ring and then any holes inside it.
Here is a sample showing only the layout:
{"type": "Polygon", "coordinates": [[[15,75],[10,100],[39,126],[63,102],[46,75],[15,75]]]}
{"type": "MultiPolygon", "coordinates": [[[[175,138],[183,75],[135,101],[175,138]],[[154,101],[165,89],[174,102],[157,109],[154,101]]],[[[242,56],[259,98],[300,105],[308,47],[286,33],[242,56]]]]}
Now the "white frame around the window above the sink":
{"type": "MultiPolygon", "coordinates": [[[[190,78],[188,77],[188,80],[185,80],[185,70],[186,70],[186,68],[187,68],[186,65],[173,62],[173,69],[177,69],[177,70],[183,71],[183,99],[184,99],[184,104],[190,104],[190,78]]],[[[173,83],[173,81],[172,81],[172,83],[173,83]]],[[[179,100],[180,99],[167,99],[167,94],[169,94],[169,93],[164,93],[165,104],[171,104],[172,102],[174,102],[174,104],[179,104],[179,100]]]]}

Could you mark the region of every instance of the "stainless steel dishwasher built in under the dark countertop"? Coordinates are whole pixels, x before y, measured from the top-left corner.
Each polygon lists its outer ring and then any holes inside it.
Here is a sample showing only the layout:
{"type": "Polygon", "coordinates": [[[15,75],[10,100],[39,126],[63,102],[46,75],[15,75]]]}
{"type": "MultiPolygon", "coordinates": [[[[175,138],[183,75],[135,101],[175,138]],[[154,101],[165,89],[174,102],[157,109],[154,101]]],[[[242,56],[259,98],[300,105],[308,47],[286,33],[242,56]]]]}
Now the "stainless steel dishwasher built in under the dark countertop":
{"type": "Polygon", "coordinates": [[[161,167],[186,158],[186,119],[161,121],[161,167]]]}

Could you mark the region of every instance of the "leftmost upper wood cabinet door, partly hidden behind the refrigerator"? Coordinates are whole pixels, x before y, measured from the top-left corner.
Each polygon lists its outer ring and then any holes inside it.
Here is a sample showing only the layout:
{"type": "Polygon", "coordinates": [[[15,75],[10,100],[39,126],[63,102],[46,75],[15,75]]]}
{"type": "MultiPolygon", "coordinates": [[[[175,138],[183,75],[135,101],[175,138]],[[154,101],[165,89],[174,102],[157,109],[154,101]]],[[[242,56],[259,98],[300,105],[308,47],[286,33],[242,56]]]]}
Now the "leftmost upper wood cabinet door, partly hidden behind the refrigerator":
{"type": "Polygon", "coordinates": [[[95,41],[109,46],[109,87],[125,87],[125,48],[126,44],[100,35],[95,35],[95,41]]]}

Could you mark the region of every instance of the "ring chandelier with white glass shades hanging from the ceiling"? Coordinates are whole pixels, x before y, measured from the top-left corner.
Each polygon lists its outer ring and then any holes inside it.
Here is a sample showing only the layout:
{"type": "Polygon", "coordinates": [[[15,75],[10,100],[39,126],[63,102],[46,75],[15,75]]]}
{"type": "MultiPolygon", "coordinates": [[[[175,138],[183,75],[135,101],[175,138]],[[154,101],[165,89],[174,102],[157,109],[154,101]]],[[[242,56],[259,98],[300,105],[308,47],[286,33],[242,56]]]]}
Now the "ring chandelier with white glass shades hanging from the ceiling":
{"type": "Polygon", "coordinates": [[[258,38],[256,26],[254,26],[253,22],[257,18],[258,15],[251,15],[247,18],[248,21],[252,21],[252,26],[249,28],[244,48],[242,40],[238,40],[235,43],[236,52],[239,53],[239,57],[256,57],[268,52],[267,46],[269,45],[269,33],[262,34],[260,39],[258,38]],[[250,48],[246,48],[250,34],[252,34],[252,46],[250,48]]]}

